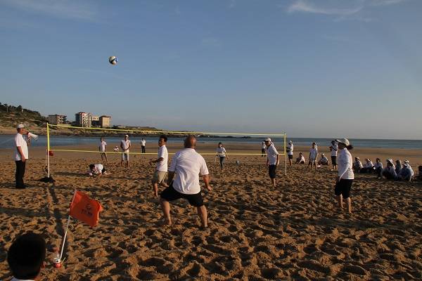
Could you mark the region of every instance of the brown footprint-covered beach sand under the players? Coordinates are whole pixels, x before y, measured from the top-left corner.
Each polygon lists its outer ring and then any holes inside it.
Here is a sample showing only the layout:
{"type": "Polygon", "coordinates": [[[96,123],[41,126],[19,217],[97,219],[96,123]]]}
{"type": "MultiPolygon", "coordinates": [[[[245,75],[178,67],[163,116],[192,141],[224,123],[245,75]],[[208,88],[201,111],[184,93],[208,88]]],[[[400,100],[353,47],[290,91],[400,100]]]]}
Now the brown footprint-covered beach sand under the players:
{"type": "MultiPolygon", "coordinates": [[[[248,145],[226,149],[256,152],[248,145]]],[[[328,149],[319,149],[329,158],[328,149]]],[[[214,152],[215,145],[199,143],[198,150],[214,152]]],[[[295,155],[300,151],[307,157],[309,148],[295,148],[295,155]]],[[[99,155],[55,152],[56,183],[46,184],[37,181],[44,176],[44,151],[30,148],[25,174],[30,188],[15,190],[12,154],[0,150],[0,280],[11,277],[6,250],[28,230],[47,241],[41,280],[422,279],[421,182],[357,175],[350,216],[335,205],[336,174],[328,167],[315,172],[289,166],[283,176],[282,162],[278,186],[272,188],[264,157],[233,155],[222,173],[215,158],[206,156],[213,190],[203,191],[209,228],[201,230],[196,209],[184,200],[171,204],[173,225],[161,226],[148,165],[154,155],[132,156],[130,169],[120,167],[119,155],[109,155],[105,166],[111,174],[94,179],[87,176],[87,165],[100,162],[99,155]],[[72,219],[64,266],[53,268],[75,189],[101,202],[104,211],[95,228],[72,219]]],[[[422,150],[359,148],[352,156],[378,156],[383,163],[388,157],[408,158],[415,170],[422,164],[422,150]]]]}

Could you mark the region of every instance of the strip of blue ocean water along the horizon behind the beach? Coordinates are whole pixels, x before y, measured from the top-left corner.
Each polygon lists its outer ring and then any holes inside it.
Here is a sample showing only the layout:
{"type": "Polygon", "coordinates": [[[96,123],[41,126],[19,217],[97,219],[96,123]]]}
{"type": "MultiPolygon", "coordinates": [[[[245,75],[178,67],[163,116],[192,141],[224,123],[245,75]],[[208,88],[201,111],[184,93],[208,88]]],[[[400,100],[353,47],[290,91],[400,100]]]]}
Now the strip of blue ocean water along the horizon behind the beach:
{"type": "MultiPolygon", "coordinates": [[[[0,148],[14,148],[14,135],[0,135],[0,148]]],[[[106,137],[108,148],[113,148],[115,145],[120,145],[121,137],[106,137]]],[[[139,144],[140,137],[130,138],[132,143],[139,144]]],[[[146,137],[146,145],[156,145],[158,138],[146,137]]],[[[183,138],[169,138],[169,142],[182,143],[183,138]]],[[[283,138],[272,138],[276,145],[283,145],[283,138]]],[[[316,142],[320,147],[331,145],[332,138],[288,138],[288,141],[293,141],[294,145],[311,146],[312,142],[316,142]]],[[[51,136],[51,147],[60,145],[98,145],[100,138],[98,137],[77,137],[77,136],[51,136]]],[[[262,138],[198,138],[198,143],[256,143],[257,148],[260,149],[262,138]]],[[[422,140],[379,140],[379,139],[350,139],[350,142],[356,148],[416,148],[422,150],[422,140]]],[[[46,136],[39,136],[37,141],[32,141],[32,146],[46,147],[46,136]]]]}

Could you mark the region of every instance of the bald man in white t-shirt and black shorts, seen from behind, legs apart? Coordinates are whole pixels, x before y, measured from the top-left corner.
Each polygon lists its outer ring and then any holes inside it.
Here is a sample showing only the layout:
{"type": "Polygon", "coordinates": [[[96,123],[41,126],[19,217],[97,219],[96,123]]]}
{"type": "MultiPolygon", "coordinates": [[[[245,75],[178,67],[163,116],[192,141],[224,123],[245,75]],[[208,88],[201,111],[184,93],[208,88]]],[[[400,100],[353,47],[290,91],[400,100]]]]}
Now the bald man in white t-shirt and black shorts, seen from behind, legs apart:
{"type": "Polygon", "coordinates": [[[188,136],[184,141],[184,149],[177,152],[170,164],[167,184],[168,188],[161,192],[161,208],[165,223],[172,224],[170,218],[170,201],[184,198],[191,206],[196,207],[202,227],[207,228],[207,209],[200,194],[199,176],[202,176],[205,188],[211,191],[210,173],[205,159],[195,150],[195,136],[188,136]],[[173,181],[174,178],[174,181],[173,181]]]}

